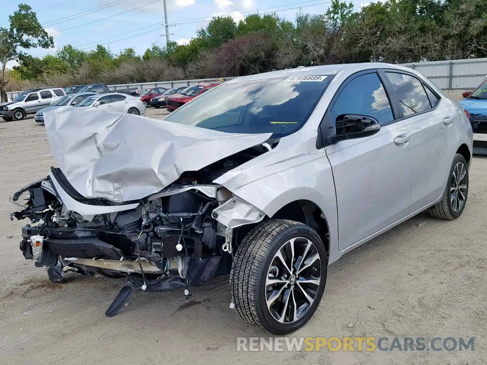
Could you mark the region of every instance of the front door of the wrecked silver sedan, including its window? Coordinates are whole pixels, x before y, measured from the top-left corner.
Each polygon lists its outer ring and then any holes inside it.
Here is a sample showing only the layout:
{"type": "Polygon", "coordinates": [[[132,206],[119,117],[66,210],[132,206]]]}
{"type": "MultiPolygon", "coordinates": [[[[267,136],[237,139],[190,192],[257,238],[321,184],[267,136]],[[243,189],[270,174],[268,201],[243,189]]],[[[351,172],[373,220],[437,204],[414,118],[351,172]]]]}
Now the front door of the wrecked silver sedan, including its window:
{"type": "Polygon", "coordinates": [[[396,121],[390,99],[374,71],[351,76],[327,111],[377,119],[370,136],[326,147],[335,180],[338,246],[343,250],[406,217],[410,209],[412,148],[409,129],[396,121]]]}

